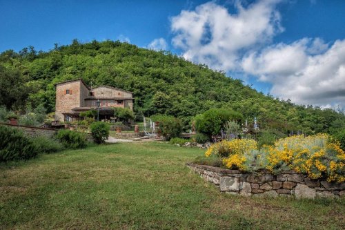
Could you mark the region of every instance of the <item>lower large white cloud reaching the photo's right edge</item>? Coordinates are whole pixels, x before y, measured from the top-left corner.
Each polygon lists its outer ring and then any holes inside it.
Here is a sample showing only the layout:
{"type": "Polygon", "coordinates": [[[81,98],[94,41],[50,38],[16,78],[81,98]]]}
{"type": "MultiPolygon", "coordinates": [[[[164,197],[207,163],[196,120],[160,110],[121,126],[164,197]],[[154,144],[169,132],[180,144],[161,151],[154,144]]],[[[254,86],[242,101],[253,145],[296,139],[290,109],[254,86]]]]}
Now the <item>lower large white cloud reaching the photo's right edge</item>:
{"type": "Polygon", "coordinates": [[[330,48],[319,39],[277,44],[250,53],[242,66],[244,72],[272,83],[271,93],[278,97],[298,104],[345,106],[345,40],[330,48]]]}

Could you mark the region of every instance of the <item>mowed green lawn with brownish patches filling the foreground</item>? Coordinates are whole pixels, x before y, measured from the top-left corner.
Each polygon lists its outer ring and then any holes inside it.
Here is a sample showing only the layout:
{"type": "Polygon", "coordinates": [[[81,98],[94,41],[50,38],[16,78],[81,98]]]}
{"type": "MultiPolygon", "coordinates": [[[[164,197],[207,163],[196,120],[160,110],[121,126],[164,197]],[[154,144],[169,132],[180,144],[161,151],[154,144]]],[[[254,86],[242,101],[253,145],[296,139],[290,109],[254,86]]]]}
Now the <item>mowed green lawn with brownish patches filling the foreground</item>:
{"type": "Polygon", "coordinates": [[[203,153],[124,143],[0,164],[0,229],[344,228],[344,199],[219,193],[185,166],[203,153]]]}

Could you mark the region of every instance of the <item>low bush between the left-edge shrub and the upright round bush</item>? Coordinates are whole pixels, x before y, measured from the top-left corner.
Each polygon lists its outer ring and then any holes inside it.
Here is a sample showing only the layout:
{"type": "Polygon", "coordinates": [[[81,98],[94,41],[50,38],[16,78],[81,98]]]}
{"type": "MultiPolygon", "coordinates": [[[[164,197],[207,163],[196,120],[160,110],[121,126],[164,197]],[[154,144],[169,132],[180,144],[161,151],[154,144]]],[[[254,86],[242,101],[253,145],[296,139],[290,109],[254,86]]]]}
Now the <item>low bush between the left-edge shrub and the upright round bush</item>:
{"type": "Polygon", "coordinates": [[[59,130],[57,139],[63,144],[65,148],[84,148],[87,140],[84,133],[78,133],[70,130],[59,130]]]}

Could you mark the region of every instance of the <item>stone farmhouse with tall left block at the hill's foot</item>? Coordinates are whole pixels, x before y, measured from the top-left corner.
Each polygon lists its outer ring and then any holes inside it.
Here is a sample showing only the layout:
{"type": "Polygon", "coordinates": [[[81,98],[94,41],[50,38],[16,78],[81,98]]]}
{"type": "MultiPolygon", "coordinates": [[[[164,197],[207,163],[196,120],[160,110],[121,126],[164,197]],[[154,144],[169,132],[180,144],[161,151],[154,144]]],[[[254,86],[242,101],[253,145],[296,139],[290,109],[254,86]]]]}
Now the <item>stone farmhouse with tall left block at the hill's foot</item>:
{"type": "Polygon", "coordinates": [[[61,82],[55,85],[55,119],[60,122],[72,122],[80,119],[81,112],[99,109],[99,119],[110,119],[115,107],[133,110],[132,92],[98,86],[90,88],[82,79],[61,82]],[[100,106],[97,108],[97,101],[100,106]]]}

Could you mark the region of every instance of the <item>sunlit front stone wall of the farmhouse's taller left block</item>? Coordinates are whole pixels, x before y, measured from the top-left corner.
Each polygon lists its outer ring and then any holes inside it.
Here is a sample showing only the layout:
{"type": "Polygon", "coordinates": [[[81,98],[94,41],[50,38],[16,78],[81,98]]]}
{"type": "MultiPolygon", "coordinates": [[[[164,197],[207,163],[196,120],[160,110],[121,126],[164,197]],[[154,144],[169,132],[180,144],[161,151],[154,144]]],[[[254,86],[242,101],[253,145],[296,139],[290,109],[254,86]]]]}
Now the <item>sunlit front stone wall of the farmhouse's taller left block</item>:
{"type": "Polygon", "coordinates": [[[81,81],[75,81],[56,86],[55,119],[63,121],[62,113],[72,113],[72,108],[81,106],[81,85],[81,81]],[[66,94],[66,90],[71,90],[71,93],[66,94]]]}

